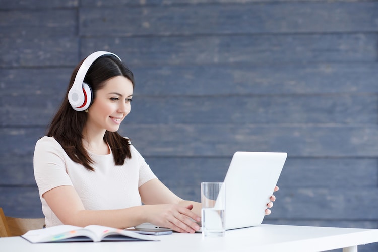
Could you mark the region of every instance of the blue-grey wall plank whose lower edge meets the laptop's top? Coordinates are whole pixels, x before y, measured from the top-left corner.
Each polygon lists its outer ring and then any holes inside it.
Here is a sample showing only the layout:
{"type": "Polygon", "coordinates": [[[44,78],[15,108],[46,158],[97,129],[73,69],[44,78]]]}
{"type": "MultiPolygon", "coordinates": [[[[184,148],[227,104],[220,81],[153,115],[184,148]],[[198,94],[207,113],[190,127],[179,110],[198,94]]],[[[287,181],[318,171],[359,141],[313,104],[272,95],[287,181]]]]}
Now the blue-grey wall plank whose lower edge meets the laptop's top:
{"type": "MultiPolygon", "coordinates": [[[[376,125],[127,124],[119,130],[146,157],[229,157],[284,151],[289,157],[376,158],[376,125]]],[[[30,155],[45,128],[0,128],[0,155],[30,155]]]]}

